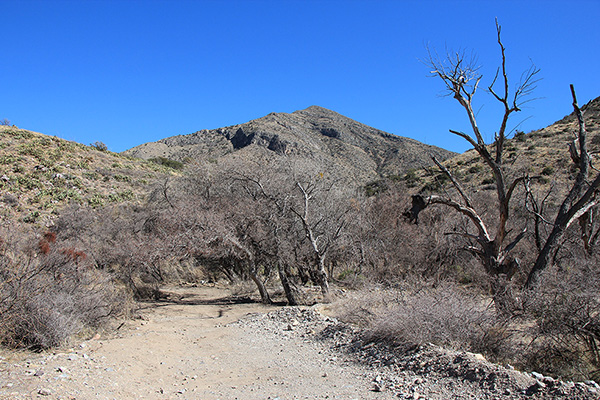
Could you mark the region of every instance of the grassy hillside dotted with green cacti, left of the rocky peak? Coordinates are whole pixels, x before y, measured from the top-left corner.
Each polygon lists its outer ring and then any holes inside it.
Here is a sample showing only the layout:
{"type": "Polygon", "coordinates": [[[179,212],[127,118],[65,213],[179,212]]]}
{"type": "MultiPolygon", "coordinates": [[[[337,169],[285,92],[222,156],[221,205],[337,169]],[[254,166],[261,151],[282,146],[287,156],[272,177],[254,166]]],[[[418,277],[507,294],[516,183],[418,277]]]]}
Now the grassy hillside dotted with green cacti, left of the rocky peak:
{"type": "Polygon", "coordinates": [[[100,207],[136,201],[147,185],[176,173],[131,159],[11,126],[0,126],[0,218],[48,225],[70,203],[100,207]]]}

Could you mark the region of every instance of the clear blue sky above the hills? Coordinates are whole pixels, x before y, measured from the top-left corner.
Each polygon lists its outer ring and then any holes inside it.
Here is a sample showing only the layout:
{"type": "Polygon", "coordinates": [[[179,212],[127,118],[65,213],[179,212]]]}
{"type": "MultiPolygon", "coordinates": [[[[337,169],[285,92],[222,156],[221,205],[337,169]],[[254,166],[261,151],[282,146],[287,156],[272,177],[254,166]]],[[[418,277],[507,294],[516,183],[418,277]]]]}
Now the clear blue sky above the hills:
{"type": "MultiPolygon", "coordinates": [[[[419,59],[474,50],[487,86],[502,24],[513,82],[532,60],[524,131],[600,96],[600,1],[0,0],[0,119],[113,151],[320,105],[454,151],[466,116],[419,59]]],[[[483,90],[481,125],[500,115],[483,90]]]]}

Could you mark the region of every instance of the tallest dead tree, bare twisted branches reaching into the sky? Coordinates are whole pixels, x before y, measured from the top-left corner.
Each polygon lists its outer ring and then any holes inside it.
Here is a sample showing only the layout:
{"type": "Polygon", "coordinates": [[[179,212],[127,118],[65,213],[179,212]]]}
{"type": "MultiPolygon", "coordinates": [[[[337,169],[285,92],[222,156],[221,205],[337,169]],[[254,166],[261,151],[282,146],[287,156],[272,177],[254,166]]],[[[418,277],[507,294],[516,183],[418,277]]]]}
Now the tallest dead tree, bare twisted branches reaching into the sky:
{"type": "MultiPolygon", "coordinates": [[[[496,307],[499,311],[507,311],[511,301],[511,296],[508,292],[508,281],[511,279],[515,268],[518,267],[518,260],[510,257],[509,253],[524,237],[526,228],[523,228],[516,235],[509,237],[510,231],[507,229],[507,224],[510,220],[510,202],[515,189],[525,178],[518,177],[512,181],[507,180],[503,169],[504,142],[507,136],[508,120],[513,113],[521,110],[521,106],[524,103],[529,101],[525,98],[535,89],[537,83],[536,76],[539,69],[532,65],[525,71],[521,77],[521,81],[511,94],[506,70],[505,48],[502,44],[500,31],[501,27],[498,21],[496,21],[501,65],[487,89],[493,98],[503,106],[504,112],[492,146],[486,145],[473,109],[473,97],[479,88],[482,78],[482,75],[479,74],[479,67],[476,65],[476,60],[473,58],[468,59],[464,52],[457,52],[453,55],[449,54],[445,60],[440,60],[437,56],[429,52],[427,60],[428,66],[432,69],[431,73],[433,76],[439,77],[444,82],[448,95],[459,102],[469,118],[472,129],[471,134],[455,130],[450,130],[450,132],[469,142],[493,174],[496,184],[497,206],[496,220],[493,225],[495,232],[490,231],[488,224],[483,220],[460,182],[435,157],[432,157],[433,162],[450,179],[459,199],[455,200],[448,195],[431,195],[423,199],[425,207],[418,207],[418,209],[440,204],[454,209],[471,221],[476,229],[476,233],[462,232],[456,234],[470,241],[471,244],[466,249],[480,259],[485,271],[490,276],[491,290],[496,307]],[[495,89],[496,84],[502,86],[498,91],[495,89]]],[[[413,210],[410,214],[412,219],[416,221],[418,210],[416,213],[413,210]]]]}

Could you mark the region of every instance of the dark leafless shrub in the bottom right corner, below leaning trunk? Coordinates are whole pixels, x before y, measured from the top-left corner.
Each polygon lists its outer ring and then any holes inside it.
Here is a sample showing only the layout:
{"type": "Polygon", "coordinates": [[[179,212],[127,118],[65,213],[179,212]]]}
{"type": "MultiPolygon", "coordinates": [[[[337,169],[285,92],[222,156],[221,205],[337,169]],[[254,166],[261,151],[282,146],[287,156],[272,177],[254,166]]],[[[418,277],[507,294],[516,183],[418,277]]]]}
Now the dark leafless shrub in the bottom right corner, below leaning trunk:
{"type": "Polygon", "coordinates": [[[597,260],[563,261],[525,293],[525,311],[535,321],[523,364],[569,379],[600,378],[600,277],[597,260]]]}

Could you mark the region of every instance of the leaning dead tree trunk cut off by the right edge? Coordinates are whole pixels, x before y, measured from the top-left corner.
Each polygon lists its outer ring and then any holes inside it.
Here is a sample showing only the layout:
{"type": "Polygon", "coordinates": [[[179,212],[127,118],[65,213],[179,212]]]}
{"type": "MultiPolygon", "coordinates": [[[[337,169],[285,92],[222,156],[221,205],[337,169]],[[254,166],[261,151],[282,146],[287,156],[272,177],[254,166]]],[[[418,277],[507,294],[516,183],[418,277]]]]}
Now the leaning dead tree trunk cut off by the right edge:
{"type": "MultiPolygon", "coordinates": [[[[591,167],[591,158],[587,149],[587,132],[583,113],[577,104],[575,88],[571,85],[571,95],[573,97],[573,109],[579,125],[576,138],[570,143],[569,151],[571,160],[579,170],[571,190],[563,200],[554,222],[552,230],[541,248],[538,257],[527,277],[526,287],[532,287],[536,283],[539,274],[546,269],[552,262],[554,253],[558,248],[560,239],[565,231],[575,221],[579,222],[581,227],[581,238],[586,250],[591,243],[597,240],[598,234],[592,234],[591,227],[593,221],[593,208],[598,204],[598,189],[600,187],[600,174],[589,182],[589,172],[591,167]]],[[[588,250],[589,251],[589,250],[588,250]]]]}

